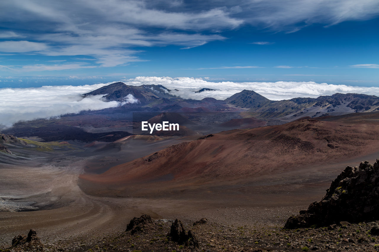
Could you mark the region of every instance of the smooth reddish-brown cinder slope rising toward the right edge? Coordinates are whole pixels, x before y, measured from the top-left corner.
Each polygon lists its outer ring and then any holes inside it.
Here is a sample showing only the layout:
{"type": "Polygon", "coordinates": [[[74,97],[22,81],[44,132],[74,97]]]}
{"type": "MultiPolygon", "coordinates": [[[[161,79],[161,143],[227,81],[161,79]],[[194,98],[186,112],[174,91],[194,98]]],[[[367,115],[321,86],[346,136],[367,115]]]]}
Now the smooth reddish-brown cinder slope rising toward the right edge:
{"type": "Polygon", "coordinates": [[[379,113],[352,114],[337,121],[304,119],[224,131],[114,166],[101,175],[84,174],[81,178],[130,185],[135,181],[155,183],[160,178],[171,177],[171,184],[179,185],[296,171],[304,165],[322,165],[376,152],[379,148],[377,119],[379,113]]]}

